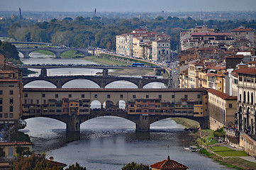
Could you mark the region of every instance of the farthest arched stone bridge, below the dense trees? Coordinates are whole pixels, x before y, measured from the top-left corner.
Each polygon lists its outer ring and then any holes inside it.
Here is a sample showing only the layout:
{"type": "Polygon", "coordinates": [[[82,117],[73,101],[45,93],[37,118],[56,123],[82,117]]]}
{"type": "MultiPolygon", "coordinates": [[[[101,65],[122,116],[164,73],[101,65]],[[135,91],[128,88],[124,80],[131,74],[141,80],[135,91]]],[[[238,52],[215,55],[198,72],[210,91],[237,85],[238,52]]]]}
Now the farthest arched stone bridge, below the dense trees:
{"type": "Polygon", "coordinates": [[[82,52],[82,54],[84,56],[88,56],[89,53],[88,53],[88,50],[87,48],[52,48],[52,47],[33,47],[33,48],[30,48],[30,47],[17,47],[17,50],[19,52],[21,52],[24,56],[24,58],[29,58],[29,54],[30,52],[34,52],[34,51],[37,51],[37,50],[48,50],[50,52],[53,52],[54,55],[55,55],[55,58],[61,58],[60,55],[62,54],[62,52],[66,52],[66,51],[70,51],[70,50],[75,50],[77,52],[82,52]]]}

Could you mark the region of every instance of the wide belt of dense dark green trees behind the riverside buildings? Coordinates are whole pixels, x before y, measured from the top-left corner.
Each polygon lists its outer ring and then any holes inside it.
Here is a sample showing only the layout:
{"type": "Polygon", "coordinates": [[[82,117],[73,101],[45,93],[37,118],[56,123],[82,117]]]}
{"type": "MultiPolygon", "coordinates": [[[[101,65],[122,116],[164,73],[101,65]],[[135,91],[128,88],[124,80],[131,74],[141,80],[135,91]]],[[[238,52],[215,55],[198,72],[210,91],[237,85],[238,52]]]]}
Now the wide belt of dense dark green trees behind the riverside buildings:
{"type": "Polygon", "coordinates": [[[256,29],[256,21],[218,21],[218,20],[194,20],[191,17],[177,18],[168,16],[155,19],[121,19],[121,18],[64,18],[52,19],[50,22],[31,20],[18,20],[9,18],[0,21],[0,35],[8,35],[17,41],[51,42],[52,45],[65,45],[67,47],[102,47],[114,50],[116,35],[130,33],[137,28],[147,28],[150,31],[166,33],[171,36],[172,50],[179,45],[179,33],[181,29],[207,25],[208,28],[216,28],[228,32],[238,26],[246,26],[256,29]]]}

